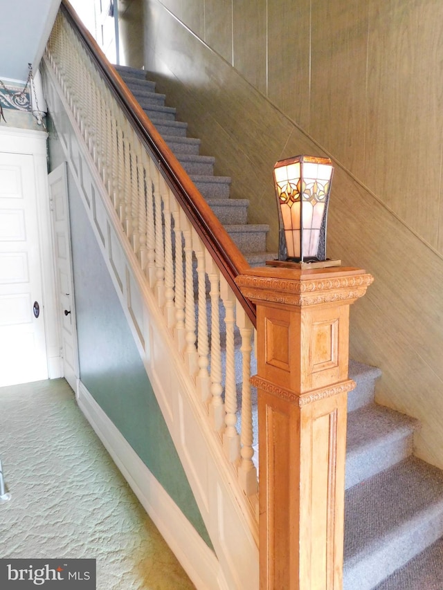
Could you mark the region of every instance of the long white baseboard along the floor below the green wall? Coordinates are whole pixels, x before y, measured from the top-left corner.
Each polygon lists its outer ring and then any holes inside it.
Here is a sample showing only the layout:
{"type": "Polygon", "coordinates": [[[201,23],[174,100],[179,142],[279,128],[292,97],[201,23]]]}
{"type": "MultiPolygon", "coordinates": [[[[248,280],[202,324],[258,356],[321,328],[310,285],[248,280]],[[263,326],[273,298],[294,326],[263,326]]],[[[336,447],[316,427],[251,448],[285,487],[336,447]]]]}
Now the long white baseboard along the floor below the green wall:
{"type": "Polygon", "coordinates": [[[197,589],[227,589],[215,553],[78,381],[78,406],[197,589]]]}

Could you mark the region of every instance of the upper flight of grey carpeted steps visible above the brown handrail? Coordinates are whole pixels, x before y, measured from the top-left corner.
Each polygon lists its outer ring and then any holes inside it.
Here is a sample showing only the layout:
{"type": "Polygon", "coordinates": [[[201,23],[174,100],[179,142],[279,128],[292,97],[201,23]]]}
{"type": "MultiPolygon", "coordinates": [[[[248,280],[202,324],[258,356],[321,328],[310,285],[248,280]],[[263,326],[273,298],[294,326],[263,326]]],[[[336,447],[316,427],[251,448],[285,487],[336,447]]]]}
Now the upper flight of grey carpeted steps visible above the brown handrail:
{"type": "Polygon", "coordinates": [[[146,72],[127,66],[116,66],[116,70],[248,263],[264,266],[266,260],[276,258],[266,252],[269,225],[248,223],[249,201],[230,199],[230,178],[214,175],[215,158],[199,154],[200,140],[186,136],[188,124],[175,120],[176,109],[165,107],[165,95],[155,92],[155,83],[145,79],[146,72]]]}

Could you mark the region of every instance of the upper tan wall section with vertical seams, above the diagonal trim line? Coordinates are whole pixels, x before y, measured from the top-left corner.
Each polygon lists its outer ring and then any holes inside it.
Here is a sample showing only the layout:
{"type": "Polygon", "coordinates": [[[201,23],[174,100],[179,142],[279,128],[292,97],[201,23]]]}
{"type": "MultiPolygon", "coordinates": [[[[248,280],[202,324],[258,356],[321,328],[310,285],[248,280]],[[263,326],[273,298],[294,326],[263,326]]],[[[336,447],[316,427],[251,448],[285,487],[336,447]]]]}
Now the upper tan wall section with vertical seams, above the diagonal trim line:
{"type": "Polygon", "coordinates": [[[443,253],[440,0],[163,4],[443,253]]]}

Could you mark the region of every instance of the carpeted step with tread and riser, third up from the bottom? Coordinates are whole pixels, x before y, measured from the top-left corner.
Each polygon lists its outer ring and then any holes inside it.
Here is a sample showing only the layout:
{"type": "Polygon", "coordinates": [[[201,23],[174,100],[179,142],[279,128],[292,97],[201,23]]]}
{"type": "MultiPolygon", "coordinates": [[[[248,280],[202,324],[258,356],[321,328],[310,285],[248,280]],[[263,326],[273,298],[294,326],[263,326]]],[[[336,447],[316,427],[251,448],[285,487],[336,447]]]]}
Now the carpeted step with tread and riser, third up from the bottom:
{"type": "Polygon", "coordinates": [[[376,404],[350,412],[345,489],[409,457],[418,427],[414,418],[376,404]]]}

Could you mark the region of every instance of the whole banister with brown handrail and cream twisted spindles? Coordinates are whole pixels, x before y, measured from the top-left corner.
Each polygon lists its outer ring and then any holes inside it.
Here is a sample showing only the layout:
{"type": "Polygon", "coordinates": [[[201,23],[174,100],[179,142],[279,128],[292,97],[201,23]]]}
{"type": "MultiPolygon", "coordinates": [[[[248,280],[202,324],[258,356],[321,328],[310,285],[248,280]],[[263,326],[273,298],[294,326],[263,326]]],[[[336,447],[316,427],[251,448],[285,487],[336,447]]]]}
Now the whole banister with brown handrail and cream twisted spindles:
{"type": "Polygon", "coordinates": [[[66,1],[44,59],[255,520],[248,263],[66,1]]]}

